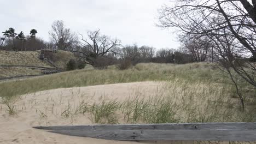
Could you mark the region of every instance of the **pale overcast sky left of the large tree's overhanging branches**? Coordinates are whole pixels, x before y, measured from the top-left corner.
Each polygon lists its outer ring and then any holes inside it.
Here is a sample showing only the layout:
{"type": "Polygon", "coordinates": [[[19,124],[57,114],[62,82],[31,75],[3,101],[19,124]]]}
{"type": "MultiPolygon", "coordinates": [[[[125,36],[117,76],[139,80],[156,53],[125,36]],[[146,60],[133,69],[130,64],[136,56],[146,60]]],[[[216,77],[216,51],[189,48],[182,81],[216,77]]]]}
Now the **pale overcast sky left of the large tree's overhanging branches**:
{"type": "Polygon", "coordinates": [[[137,44],[177,48],[176,35],[155,26],[157,9],[167,0],[10,0],[1,1],[0,30],[9,27],[27,35],[32,28],[49,40],[55,20],[63,20],[74,32],[101,29],[123,45],[137,44]]]}

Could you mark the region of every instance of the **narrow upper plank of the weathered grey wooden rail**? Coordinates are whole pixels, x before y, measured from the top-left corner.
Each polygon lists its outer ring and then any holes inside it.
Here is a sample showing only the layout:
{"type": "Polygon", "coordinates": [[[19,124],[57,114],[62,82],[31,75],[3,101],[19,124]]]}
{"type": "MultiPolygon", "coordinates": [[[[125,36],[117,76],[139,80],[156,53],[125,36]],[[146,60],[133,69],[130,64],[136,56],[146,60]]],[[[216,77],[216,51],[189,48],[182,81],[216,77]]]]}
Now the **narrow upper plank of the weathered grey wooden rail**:
{"type": "Polygon", "coordinates": [[[256,130],[256,123],[176,123],[176,124],[106,124],[106,125],[71,125],[52,127],[33,127],[45,130],[175,130],[175,129],[232,129],[256,130]]]}

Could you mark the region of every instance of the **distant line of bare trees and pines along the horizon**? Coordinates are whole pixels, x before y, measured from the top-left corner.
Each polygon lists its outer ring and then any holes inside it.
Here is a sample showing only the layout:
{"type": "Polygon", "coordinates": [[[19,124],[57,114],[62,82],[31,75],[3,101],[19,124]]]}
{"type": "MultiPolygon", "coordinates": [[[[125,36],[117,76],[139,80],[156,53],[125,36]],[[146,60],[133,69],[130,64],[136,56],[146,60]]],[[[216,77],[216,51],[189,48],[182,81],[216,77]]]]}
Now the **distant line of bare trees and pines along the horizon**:
{"type": "MultiPolygon", "coordinates": [[[[36,37],[37,30],[32,29],[30,35],[24,36],[23,32],[15,33],[14,28],[3,32],[1,49],[9,51],[36,51],[42,49],[58,49],[73,52],[79,59],[77,63],[92,65],[103,69],[107,65],[118,64],[120,69],[130,67],[141,62],[155,63],[190,63],[206,61],[209,45],[203,41],[187,41],[183,49],[159,49],[136,44],[125,45],[117,38],[102,34],[100,29],[88,31],[86,35],[72,32],[63,21],[54,21],[49,31],[50,41],[46,42],[36,37]],[[80,37],[80,38],[79,38],[80,37]],[[191,51],[191,50],[194,51],[191,51]],[[204,51],[200,55],[195,50],[204,51]]],[[[73,61],[73,60],[72,60],[73,61]]],[[[69,64],[73,64],[71,62],[69,64]]],[[[80,65],[80,64],[77,64],[80,65]]]]}

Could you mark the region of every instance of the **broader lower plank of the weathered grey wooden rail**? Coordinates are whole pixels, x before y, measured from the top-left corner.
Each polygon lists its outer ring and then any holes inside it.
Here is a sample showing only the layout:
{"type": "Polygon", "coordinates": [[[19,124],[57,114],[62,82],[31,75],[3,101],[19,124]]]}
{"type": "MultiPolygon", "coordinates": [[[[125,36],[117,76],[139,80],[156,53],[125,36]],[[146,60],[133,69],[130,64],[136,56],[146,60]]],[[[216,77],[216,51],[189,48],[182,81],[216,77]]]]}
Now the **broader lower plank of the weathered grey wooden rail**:
{"type": "Polygon", "coordinates": [[[256,141],[255,130],[57,130],[50,132],[121,141],[256,141]]]}

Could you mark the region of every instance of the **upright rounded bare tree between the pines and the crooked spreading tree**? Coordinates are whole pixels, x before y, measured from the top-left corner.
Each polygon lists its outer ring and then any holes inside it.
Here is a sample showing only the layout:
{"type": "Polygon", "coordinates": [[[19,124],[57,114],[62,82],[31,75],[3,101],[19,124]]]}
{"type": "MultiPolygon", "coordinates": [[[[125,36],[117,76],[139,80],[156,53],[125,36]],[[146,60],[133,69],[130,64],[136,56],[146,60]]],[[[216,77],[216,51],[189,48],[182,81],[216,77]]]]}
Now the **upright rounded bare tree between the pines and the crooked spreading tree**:
{"type": "Polygon", "coordinates": [[[50,39],[59,50],[70,50],[73,44],[78,41],[77,35],[66,28],[63,21],[54,21],[51,28],[49,32],[50,39]]]}

